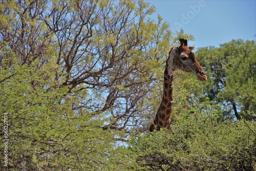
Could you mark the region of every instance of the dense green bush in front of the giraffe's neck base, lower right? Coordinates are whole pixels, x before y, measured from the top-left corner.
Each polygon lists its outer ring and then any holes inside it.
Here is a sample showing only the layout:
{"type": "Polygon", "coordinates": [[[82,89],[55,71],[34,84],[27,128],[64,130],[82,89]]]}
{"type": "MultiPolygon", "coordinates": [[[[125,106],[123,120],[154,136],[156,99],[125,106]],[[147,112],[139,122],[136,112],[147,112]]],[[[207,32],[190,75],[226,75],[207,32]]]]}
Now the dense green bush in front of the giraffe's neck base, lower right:
{"type": "MultiPolygon", "coordinates": [[[[240,120],[220,122],[209,101],[204,112],[181,113],[168,130],[134,137],[131,150],[138,154],[134,170],[255,170],[256,124],[240,120]]],[[[195,110],[195,109],[193,109],[195,110]]]]}

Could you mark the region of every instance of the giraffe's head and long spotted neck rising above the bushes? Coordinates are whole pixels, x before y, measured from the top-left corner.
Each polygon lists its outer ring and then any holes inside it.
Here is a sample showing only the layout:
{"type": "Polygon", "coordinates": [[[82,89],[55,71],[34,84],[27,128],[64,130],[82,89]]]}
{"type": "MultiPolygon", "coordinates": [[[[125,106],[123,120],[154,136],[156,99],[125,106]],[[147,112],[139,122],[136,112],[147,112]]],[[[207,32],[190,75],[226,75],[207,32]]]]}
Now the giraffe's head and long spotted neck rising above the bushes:
{"type": "Polygon", "coordinates": [[[181,70],[195,75],[200,81],[207,81],[207,77],[197,62],[192,50],[194,47],[187,46],[187,40],[180,38],[180,45],[170,48],[169,56],[166,60],[164,70],[163,96],[157,114],[150,125],[150,132],[154,129],[167,128],[172,131],[170,126],[170,114],[172,113],[173,101],[173,77],[175,70],[181,70]]]}

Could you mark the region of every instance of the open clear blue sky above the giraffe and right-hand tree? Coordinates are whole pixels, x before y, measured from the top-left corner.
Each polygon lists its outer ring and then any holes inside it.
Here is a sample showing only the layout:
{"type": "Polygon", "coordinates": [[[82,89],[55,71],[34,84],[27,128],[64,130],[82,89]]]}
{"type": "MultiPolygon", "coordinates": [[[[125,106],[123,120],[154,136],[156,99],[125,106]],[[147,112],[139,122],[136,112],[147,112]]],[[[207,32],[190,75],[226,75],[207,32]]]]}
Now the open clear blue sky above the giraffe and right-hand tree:
{"type": "Polygon", "coordinates": [[[188,42],[196,48],[215,46],[232,39],[256,40],[256,0],[251,1],[146,1],[170,30],[183,29],[195,37],[188,42]]]}

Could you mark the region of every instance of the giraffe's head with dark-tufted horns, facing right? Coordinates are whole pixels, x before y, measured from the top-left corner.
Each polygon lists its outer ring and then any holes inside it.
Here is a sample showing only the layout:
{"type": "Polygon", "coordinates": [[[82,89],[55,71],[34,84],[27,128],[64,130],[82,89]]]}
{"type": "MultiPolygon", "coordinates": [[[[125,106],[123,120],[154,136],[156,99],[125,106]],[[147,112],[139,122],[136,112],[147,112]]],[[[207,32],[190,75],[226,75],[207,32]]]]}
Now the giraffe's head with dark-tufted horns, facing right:
{"type": "Polygon", "coordinates": [[[207,77],[198,63],[192,50],[194,47],[187,46],[187,40],[180,38],[180,45],[171,48],[166,65],[169,66],[169,72],[182,70],[195,75],[200,81],[207,81],[207,77]]]}

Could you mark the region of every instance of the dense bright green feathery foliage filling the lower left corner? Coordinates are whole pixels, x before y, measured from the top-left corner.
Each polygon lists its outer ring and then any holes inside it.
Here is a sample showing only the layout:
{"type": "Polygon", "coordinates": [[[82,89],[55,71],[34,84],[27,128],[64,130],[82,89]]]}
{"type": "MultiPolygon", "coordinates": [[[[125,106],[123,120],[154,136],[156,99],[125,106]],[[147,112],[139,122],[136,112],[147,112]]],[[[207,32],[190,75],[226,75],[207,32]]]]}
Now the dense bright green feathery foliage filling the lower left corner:
{"type": "MultiPolygon", "coordinates": [[[[8,113],[9,121],[9,168],[120,170],[117,159],[125,162],[126,153],[115,147],[114,137],[123,133],[103,131],[100,115],[72,110],[78,101],[67,95],[69,87],[54,80],[54,63],[34,71],[36,65],[13,65],[14,75],[1,84],[0,111],[8,113]]],[[[1,80],[7,76],[1,74],[1,80]]]]}

